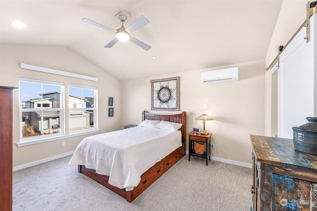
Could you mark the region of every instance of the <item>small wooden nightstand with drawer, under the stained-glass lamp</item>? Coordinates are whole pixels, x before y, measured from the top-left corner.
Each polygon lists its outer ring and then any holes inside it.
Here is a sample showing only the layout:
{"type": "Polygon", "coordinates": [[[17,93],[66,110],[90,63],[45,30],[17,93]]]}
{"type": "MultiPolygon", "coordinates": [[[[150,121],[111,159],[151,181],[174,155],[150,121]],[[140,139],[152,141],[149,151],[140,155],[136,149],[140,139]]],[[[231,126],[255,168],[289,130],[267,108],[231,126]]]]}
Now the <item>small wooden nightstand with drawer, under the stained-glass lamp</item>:
{"type": "Polygon", "coordinates": [[[187,133],[188,135],[188,161],[190,161],[190,156],[197,156],[200,158],[206,159],[206,165],[208,166],[208,160],[211,160],[211,135],[212,133],[208,133],[207,135],[196,133],[191,131],[190,133],[187,133]],[[198,142],[200,144],[205,144],[205,152],[204,154],[196,154],[194,145],[195,142],[198,142]]]}

